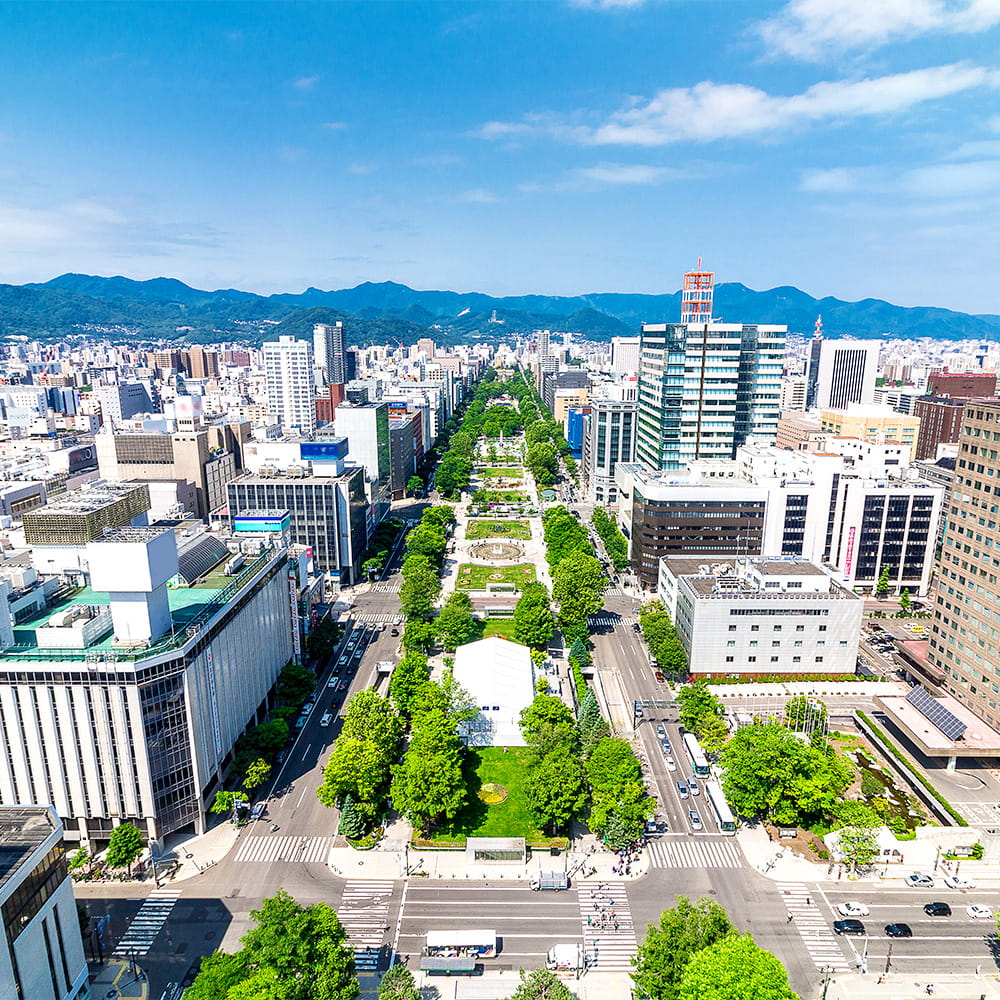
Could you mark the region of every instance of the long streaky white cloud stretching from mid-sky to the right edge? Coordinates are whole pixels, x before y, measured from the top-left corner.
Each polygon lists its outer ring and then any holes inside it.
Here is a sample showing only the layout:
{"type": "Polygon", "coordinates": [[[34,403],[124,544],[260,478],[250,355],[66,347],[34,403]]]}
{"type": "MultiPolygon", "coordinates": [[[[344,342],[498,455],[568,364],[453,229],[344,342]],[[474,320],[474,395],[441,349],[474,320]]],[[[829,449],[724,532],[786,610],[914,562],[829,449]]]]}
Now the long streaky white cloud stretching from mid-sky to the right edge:
{"type": "Polygon", "coordinates": [[[703,81],[637,99],[596,126],[553,115],[529,115],[520,122],[487,122],[476,135],[509,139],[548,135],[582,145],[664,146],[675,142],[770,135],[818,121],[840,121],[909,111],[924,102],[979,87],[1000,85],[1000,73],[954,63],[862,80],[814,84],[789,97],[741,83],[703,81]]]}

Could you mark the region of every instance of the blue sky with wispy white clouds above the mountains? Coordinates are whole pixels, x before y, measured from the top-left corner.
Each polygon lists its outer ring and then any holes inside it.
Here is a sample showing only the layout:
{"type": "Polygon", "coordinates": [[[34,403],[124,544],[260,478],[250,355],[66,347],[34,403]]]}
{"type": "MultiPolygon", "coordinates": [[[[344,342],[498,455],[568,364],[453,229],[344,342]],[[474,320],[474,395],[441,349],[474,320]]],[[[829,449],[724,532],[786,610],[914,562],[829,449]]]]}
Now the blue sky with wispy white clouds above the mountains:
{"type": "Polygon", "coordinates": [[[998,223],[1000,0],[0,3],[0,281],[1000,312],[998,223]]]}

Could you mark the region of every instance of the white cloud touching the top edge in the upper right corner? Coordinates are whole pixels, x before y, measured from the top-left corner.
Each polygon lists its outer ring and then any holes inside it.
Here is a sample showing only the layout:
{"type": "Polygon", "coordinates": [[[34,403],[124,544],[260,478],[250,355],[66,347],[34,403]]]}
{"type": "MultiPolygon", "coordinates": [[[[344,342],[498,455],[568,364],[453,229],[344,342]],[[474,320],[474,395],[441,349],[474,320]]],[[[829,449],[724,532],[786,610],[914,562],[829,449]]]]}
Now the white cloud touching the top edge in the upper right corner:
{"type": "Polygon", "coordinates": [[[998,0],[790,0],[757,31],[772,52],[819,60],[932,32],[974,34],[997,24],[998,0]]]}

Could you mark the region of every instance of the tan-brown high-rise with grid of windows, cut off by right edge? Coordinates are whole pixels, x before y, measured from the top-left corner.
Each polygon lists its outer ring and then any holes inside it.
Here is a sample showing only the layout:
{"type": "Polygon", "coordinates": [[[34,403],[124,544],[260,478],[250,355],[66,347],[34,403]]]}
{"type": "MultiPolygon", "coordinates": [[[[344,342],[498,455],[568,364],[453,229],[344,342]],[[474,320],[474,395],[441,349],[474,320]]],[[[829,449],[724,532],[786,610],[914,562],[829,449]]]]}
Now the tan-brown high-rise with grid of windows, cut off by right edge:
{"type": "Polygon", "coordinates": [[[944,689],[1000,730],[1000,400],[965,407],[927,658],[944,689]]]}

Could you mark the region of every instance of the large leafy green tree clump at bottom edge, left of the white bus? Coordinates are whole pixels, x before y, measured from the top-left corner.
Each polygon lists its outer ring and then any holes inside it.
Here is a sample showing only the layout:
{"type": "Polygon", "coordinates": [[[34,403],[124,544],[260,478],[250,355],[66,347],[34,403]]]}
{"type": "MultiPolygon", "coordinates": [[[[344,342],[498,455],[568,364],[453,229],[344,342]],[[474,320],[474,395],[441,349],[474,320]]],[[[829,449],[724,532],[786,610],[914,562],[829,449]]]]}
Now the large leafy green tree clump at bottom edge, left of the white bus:
{"type": "Polygon", "coordinates": [[[337,914],[302,907],[284,890],[251,910],[254,926],[235,955],[202,960],[194,1000],[357,1000],[354,955],[337,914]]]}

